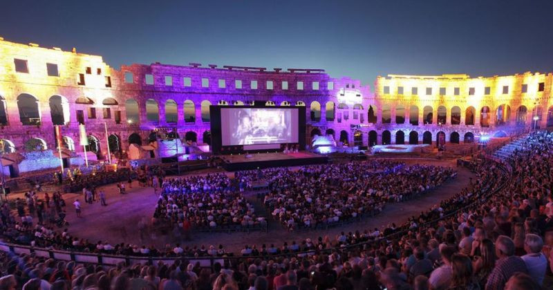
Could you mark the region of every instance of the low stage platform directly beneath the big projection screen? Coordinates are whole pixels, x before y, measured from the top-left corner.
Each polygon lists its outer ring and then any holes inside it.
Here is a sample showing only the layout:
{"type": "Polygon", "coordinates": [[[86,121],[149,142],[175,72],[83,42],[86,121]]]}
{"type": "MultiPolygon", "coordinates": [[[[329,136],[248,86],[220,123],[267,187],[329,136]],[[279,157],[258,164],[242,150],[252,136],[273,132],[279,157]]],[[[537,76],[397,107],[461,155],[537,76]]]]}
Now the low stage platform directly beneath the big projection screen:
{"type": "Polygon", "coordinates": [[[256,168],[268,168],[279,166],[299,166],[308,164],[325,164],[327,156],[301,151],[297,153],[255,153],[240,155],[223,155],[223,167],[225,170],[251,170],[256,168]]]}

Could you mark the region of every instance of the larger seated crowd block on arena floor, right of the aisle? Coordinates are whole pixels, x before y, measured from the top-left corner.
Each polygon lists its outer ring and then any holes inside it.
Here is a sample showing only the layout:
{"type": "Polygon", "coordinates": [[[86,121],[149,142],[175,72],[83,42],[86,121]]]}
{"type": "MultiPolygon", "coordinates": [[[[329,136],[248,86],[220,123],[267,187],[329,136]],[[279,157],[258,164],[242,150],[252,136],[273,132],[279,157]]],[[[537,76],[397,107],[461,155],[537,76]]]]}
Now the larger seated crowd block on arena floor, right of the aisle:
{"type": "Polygon", "coordinates": [[[374,215],[456,175],[451,168],[358,161],[263,172],[265,206],[289,230],[317,228],[374,215]]]}

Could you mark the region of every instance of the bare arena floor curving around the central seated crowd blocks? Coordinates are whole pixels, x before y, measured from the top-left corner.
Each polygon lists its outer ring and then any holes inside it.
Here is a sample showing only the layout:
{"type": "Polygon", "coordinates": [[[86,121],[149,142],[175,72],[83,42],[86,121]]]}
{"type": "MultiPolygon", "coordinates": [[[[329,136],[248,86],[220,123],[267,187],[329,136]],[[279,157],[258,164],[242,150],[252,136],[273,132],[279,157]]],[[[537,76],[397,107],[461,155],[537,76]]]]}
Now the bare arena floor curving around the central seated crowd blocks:
{"type": "MultiPolygon", "coordinates": [[[[437,161],[424,159],[406,159],[402,160],[408,164],[432,164],[456,167],[455,161],[437,161]]],[[[268,217],[269,231],[252,232],[252,233],[193,233],[191,241],[178,240],[169,235],[145,235],[144,239],[140,239],[139,223],[144,219],[149,223],[154,210],[154,204],[158,197],[153,193],[152,188],[142,188],[138,186],[138,182],[133,183],[133,188],[127,186],[128,194],[121,195],[115,185],[104,186],[108,206],[101,206],[100,202],[95,202],[92,205],[84,203],[81,194],[64,194],[67,202],[67,220],[70,223],[69,233],[76,237],[89,239],[90,242],[99,240],[107,241],[116,244],[126,242],[131,244],[150,245],[153,244],[162,247],[167,243],[180,244],[189,246],[200,246],[204,244],[218,245],[223,244],[227,251],[240,251],[245,244],[275,244],[281,246],[283,242],[299,241],[310,237],[316,239],[319,236],[324,237],[329,235],[334,239],[335,235],[341,231],[355,231],[372,229],[375,227],[382,228],[390,222],[402,224],[409,217],[420,213],[422,210],[430,208],[431,205],[438,203],[442,199],[447,199],[454,194],[460,192],[469,183],[469,178],[474,177],[469,170],[464,167],[458,167],[458,176],[452,181],[448,181],[440,188],[436,188],[431,192],[424,194],[418,199],[414,199],[404,203],[394,203],[386,206],[384,212],[375,216],[368,217],[362,221],[348,224],[344,227],[335,227],[328,230],[301,230],[297,232],[289,232],[285,230],[277,221],[273,221],[268,217]],[[82,218],[78,218],[73,210],[73,201],[79,199],[82,204],[82,218]],[[126,235],[125,235],[126,232],[126,235]]],[[[209,171],[196,172],[195,174],[206,174],[209,171]]],[[[229,172],[234,176],[234,173],[229,172]]],[[[252,197],[255,199],[255,197],[252,197]]],[[[261,204],[262,202],[260,202],[261,204]]],[[[261,206],[256,206],[256,211],[261,211],[261,206]]]]}

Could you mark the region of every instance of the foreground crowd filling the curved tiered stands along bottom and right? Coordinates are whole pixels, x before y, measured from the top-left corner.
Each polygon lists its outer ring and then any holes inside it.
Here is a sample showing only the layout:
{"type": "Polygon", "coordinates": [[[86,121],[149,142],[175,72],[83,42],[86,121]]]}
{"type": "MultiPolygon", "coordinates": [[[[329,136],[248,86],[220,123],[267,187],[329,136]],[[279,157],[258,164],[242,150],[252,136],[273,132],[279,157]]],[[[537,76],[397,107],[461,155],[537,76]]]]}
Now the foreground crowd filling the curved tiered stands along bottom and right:
{"type": "Polygon", "coordinates": [[[245,246],[246,257],[210,268],[184,257],[104,267],[3,255],[0,289],[552,289],[553,133],[525,137],[507,163],[480,161],[467,188],[384,230],[245,246]]]}

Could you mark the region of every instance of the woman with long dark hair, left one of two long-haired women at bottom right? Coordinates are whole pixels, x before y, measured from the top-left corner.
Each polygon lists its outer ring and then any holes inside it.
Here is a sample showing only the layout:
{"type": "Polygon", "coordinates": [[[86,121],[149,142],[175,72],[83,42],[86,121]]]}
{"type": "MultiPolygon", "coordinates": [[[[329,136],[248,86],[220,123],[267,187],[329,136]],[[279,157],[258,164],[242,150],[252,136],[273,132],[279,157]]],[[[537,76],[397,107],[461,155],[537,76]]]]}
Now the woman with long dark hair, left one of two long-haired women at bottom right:
{"type": "Polygon", "coordinates": [[[480,284],[474,278],[472,262],[469,256],[456,253],[451,257],[451,290],[480,290],[480,284]]]}

